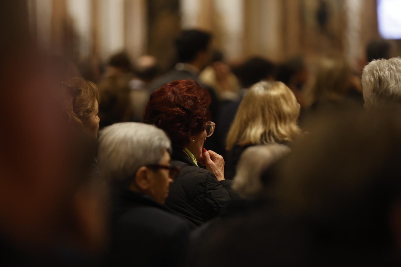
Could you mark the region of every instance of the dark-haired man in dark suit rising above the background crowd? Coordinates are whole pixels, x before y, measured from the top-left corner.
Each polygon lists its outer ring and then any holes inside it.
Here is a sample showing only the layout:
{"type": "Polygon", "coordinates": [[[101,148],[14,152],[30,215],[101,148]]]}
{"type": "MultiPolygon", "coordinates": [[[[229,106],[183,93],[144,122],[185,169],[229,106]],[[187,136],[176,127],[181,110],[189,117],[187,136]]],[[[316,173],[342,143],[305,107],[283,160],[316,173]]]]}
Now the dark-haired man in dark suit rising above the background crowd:
{"type": "MultiPolygon", "coordinates": [[[[178,63],[174,69],[157,78],[151,85],[152,91],[160,88],[166,83],[176,80],[192,79],[202,85],[210,94],[212,102],[209,107],[212,121],[219,115],[219,100],[213,88],[202,84],[199,79],[199,73],[211,63],[212,59],[212,36],[208,32],[201,30],[183,30],[176,38],[176,50],[178,63]]],[[[218,127],[218,126],[217,126],[218,127]]],[[[208,150],[213,150],[217,154],[223,152],[223,146],[219,144],[217,138],[212,136],[205,143],[208,150]]]]}

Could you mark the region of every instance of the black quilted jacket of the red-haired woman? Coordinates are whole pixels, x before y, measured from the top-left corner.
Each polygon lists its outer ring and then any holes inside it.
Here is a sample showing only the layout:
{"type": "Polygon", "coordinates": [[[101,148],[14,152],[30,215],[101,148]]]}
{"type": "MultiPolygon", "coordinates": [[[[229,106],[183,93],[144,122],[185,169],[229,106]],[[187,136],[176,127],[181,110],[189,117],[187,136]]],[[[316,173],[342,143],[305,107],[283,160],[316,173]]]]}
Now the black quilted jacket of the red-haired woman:
{"type": "Polygon", "coordinates": [[[194,225],[214,218],[227,202],[239,198],[231,189],[233,181],[218,181],[213,173],[198,168],[182,150],[174,150],[171,164],[181,171],[170,186],[166,206],[194,225]]]}

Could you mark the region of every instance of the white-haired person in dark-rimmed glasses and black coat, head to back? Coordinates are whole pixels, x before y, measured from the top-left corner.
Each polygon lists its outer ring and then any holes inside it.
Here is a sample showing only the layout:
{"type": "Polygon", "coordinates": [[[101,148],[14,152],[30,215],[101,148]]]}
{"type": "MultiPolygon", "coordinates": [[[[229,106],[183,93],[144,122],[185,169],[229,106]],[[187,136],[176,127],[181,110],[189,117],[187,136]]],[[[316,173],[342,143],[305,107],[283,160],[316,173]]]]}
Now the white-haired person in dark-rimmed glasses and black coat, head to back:
{"type": "Polygon", "coordinates": [[[109,266],[181,266],[190,225],[164,206],[179,169],[171,142],[154,125],[126,122],[99,138],[99,166],[111,182],[109,266]]]}

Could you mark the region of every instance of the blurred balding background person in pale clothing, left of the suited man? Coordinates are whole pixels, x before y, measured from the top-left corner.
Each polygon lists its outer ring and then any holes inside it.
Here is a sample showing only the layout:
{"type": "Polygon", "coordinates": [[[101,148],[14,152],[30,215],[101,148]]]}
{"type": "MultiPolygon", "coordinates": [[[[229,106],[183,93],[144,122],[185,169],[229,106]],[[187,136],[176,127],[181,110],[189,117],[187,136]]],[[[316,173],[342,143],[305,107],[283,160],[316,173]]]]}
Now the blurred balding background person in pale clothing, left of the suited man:
{"type": "Polygon", "coordinates": [[[138,57],[134,64],[134,79],[130,81],[131,121],[142,122],[146,103],[151,92],[150,84],[158,74],[156,58],[145,55],[138,57]]]}

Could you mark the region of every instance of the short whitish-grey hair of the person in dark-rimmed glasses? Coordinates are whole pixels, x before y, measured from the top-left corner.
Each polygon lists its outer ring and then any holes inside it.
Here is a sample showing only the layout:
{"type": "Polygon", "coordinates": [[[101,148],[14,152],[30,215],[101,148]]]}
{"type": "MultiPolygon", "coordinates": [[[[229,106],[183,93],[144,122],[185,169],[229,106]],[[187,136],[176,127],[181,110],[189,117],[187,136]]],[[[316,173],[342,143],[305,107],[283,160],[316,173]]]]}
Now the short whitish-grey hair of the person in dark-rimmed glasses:
{"type": "Polygon", "coordinates": [[[123,122],[105,127],[99,134],[98,162],[107,181],[129,186],[142,166],[157,164],[171,142],[154,125],[123,122]]]}

